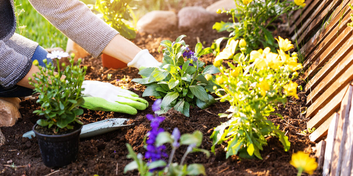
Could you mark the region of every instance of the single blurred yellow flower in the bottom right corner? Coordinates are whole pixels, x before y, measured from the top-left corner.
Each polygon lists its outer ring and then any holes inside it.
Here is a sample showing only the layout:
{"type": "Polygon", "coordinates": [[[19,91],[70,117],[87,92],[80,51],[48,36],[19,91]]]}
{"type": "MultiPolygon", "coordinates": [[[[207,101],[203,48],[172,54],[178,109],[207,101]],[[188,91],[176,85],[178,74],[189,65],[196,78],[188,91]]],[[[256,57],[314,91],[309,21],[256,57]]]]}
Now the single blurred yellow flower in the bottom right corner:
{"type": "Polygon", "coordinates": [[[310,175],[313,174],[317,168],[315,158],[311,158],[303,151],[293,153],[292,160],[289,161],[289,164],[292,164],[299,172],[304,171],[310,175]]]}

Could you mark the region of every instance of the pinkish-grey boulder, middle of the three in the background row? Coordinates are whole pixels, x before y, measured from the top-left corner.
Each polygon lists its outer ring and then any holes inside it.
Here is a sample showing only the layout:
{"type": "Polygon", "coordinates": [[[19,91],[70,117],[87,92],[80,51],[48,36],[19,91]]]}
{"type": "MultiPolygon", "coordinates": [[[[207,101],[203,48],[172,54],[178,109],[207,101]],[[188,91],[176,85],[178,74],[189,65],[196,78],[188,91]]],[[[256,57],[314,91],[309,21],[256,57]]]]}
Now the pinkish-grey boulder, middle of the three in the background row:
{"type": "Polygon", "coordinates": [[[203,24],[213,21],[217,14],[206,11],[203,7],[184,7],[178,13],[179,28],[191,29],[202,27],[203,24]]]}

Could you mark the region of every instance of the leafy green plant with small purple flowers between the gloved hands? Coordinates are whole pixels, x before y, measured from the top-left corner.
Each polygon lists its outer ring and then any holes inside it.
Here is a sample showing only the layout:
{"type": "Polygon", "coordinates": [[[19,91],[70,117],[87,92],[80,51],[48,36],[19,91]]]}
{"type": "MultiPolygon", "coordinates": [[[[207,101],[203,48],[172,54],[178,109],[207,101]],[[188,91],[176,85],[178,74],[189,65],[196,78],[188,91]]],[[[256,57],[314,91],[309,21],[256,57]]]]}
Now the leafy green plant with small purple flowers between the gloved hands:
{"type": "Polygon", "coordinates": [[[158,114],[174,108],[189,117],[190,106],[205,109],[216,102],[207,93],[213,91],[216,84],[207,81],[204,75],[219,73],[219,69],[213,65],[203,67],[205,63],[198,59],[212,53],[211,48],[202,49],[202,44],[197,43],[193,52],[182,40],[183,37],[185,35],[179,36],[173,43],[163,40],[160,45],[165,47],[162,50],[162,65],[142,69],[138,74],[143,78],[132,80],[147,86],[142,96],[163,97],[162,110],[158,114]]]}

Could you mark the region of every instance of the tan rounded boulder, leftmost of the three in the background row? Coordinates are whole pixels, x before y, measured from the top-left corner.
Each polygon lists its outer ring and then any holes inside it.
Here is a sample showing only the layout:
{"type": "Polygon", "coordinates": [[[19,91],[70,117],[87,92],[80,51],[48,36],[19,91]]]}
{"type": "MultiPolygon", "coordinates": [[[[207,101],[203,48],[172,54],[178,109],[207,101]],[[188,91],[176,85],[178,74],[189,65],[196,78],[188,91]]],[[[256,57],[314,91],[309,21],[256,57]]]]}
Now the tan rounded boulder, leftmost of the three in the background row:
{"type": "Polygon", "coordinates": [[[156,33],[178,25],[177,14],[173,11],[151,11],[137,21],[137,30],[145,33],[156,33]]]}

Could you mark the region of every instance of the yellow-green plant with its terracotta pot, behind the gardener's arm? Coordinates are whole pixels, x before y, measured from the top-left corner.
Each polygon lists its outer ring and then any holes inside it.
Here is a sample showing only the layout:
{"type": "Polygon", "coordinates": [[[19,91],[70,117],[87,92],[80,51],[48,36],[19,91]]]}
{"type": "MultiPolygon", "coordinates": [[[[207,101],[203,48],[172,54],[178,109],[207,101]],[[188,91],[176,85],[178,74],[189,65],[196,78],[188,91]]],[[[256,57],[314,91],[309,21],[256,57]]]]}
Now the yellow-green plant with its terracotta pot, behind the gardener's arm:
{"type": "MultiPolygon", "coordinates": [[[[92,11],[98,13],[100,17],[121,36],[127,39],[136,37],[136,30],[129,24],[128,20],[133,20],[132,7],[129,6],[132,0],[97,0],[95,5],[88,6],[92,11]]],[[[127,64],[106,54],[102,54],[103,67],[119,69],[127,67],[127,64]]]]}

